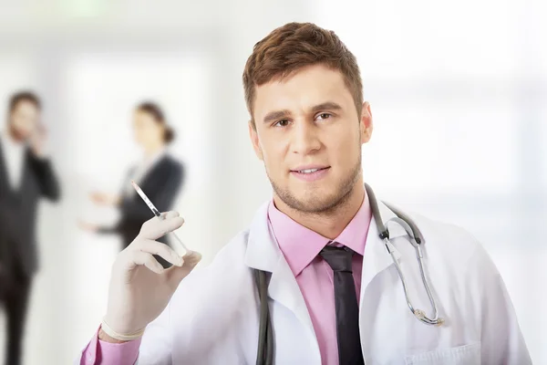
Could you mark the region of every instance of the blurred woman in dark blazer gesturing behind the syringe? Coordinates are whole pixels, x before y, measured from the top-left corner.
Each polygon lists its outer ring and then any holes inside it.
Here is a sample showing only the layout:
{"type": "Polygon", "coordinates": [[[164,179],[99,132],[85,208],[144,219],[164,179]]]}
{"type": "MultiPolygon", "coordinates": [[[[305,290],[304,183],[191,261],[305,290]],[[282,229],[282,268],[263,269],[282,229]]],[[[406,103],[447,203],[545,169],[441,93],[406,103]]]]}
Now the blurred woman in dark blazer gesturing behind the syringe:
{"type": "MultiPolygon", "coordinates": [[[[153,102],[142,102],[133,114],[135,141],[143,150],[143,156],[137,166],[129,170],[119,194],[91,193],[91,200],[99,205],[119,208],[121,214],[118,224],[104,227],[98,224],[80,222],[88,231],[100,234],[119,234],[122,249],[127,247],[140,226],[153,215],[150,208],[140,199],[130,182],[138,183],[143,192],[156,204],[160,211],[168,211],[181,189],[184,168],[167,151],[174,138],[174,132],[167,125],[160,107],[153,102]]],[[[162,238],[167,243],[166,238],[162,238]]]]}

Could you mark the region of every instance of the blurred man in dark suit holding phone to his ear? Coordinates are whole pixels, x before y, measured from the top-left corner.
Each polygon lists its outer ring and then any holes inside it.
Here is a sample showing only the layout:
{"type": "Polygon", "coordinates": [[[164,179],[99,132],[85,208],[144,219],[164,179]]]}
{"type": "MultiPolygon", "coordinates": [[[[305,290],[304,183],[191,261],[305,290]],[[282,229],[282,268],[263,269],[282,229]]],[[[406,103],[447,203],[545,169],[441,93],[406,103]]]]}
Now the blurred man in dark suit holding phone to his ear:
{"type": "Polygon", "coordinates": [[[59,184],[46,155],[41,103],[33,92],[9,100],[0,134],[0,299],[7,315],[6,362],[22,360],[26,312],[38,267],[36,212],[40,198],[59,199],[59,184]]]}

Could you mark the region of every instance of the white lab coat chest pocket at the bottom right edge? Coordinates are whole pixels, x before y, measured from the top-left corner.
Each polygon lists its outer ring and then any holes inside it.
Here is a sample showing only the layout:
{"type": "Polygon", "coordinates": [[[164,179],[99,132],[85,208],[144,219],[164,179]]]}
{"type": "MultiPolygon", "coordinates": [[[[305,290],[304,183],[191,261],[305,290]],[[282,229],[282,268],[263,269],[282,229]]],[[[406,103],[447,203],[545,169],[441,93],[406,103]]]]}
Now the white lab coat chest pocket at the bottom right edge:
{"type": "Polygon", "coordinates": [[[407,365],[480,365],[480,342],[406,357],[407,365]]]}

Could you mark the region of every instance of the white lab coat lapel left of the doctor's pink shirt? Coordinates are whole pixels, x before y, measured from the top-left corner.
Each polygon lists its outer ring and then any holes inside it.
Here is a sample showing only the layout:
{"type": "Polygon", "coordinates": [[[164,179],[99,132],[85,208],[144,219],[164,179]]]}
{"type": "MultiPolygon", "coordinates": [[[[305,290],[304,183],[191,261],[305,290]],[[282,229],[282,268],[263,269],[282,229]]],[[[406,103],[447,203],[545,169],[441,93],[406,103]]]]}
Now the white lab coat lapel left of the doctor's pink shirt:
{"type": "Polygon", "coordinates": [[[312,320],[296,278],[275,241],[268,222],[268,203],[255,214],[245,253],[247,266],[272,273],[268,296],[291,310],[296,318],[315,336],[312,320]]]}

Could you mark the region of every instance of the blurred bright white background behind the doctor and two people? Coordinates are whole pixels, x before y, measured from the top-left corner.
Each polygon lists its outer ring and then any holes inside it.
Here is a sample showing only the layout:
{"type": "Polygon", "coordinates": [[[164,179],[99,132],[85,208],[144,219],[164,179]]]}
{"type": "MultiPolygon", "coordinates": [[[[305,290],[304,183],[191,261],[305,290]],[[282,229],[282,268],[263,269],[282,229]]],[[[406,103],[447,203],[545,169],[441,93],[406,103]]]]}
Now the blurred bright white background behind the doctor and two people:
{"type": "MultiPolygon", "coordinates": [[[[546,16],[541,0],[1,0],[0,129],[8,96],[36,90],[63,193],[40,205],[25,363],[69,364],[98,328],[119,237],[77,221],[116,221],[88,194],[119,193],[139,160],[139,101],[159,102],[177,133],[174,208],[204,265],[270,198],[241,76],[254,43],[289,21],[335,30],[359,61],[375,120],[365,180],[479,238],[547,363],[546,16]]],[[[0,359],[4,344],[0,315],[0,359]]]]}

